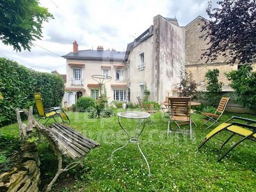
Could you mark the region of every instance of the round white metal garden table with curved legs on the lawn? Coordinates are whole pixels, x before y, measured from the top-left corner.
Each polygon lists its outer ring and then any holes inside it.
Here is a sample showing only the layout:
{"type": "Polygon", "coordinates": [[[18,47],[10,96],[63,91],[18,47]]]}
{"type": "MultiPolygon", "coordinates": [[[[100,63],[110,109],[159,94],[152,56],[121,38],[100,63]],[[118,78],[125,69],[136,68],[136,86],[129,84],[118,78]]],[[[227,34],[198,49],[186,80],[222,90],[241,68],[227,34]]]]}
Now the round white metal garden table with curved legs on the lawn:
{"type": "Polygon", "coordinates": [[[124,130],[124,132],[126,133],[127,135],[127,142],[124,146],[114,150],[111,154],[111,159],[113,158],[113,154],[120,150],[120,149],[123,149],[124,147],[126,147],[129,143],[137,143],[137,146],[140,150],[140,153],[141,155],[143,156],[143,158],[145,159],[146,161],[146,164],[148,166],[148,173],[149,175],[151,175],[150,173],[150,167],[149,167],[149,164],[148,164],[148,161],[147,161],[147,158],[145,157],[145,155],[142,153],[142,150],[140,148],[140,143],[139,143],[139,137],[141,135],[141,133],[143,132],[144,128],[145,128],[145,121],[146,121],[146,118],[150,117],[150,114],[149,113],[146,113],[146,112],[142,112],[142,111],[124,111],[124,112],[119,112],[117,113],[117,117],[118,117],[118,123],[119,125],[121,126],[121,128],[124,130]],[[137,124],[137,130],[139,128],[139,125],[140,124],[143,124],[142,125],[142,129],[139,131],[138,135],[135,135],[134,137],[130,137],[129,133],[124,129],[124,127],[121,125],[121,122],[120,122],[120,118],[123,117],[123,118],[129,118],[129,119],[142,119],[142,121],[138,122],[137,124]]]}

